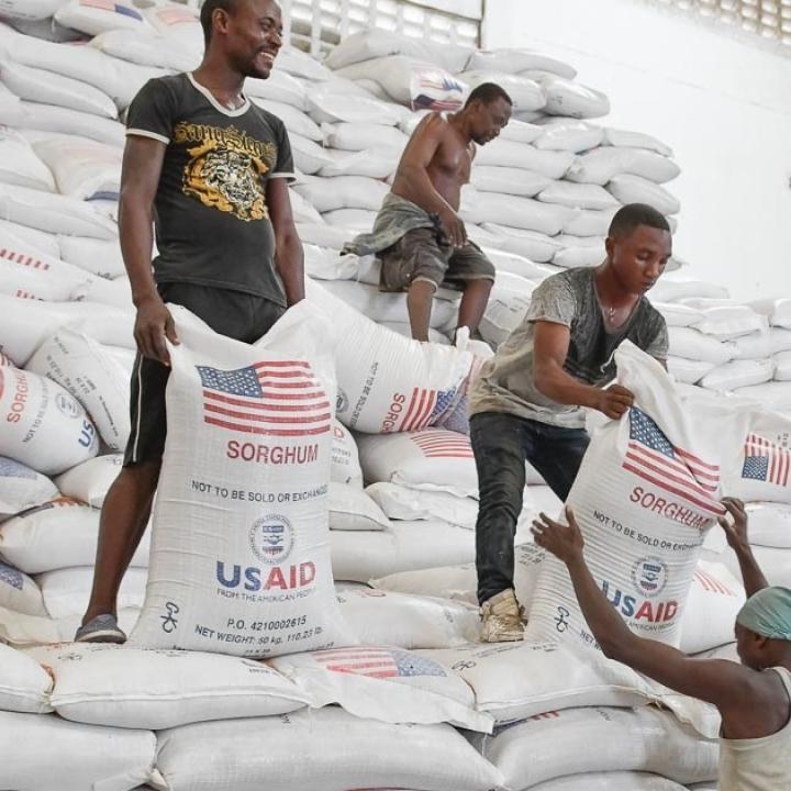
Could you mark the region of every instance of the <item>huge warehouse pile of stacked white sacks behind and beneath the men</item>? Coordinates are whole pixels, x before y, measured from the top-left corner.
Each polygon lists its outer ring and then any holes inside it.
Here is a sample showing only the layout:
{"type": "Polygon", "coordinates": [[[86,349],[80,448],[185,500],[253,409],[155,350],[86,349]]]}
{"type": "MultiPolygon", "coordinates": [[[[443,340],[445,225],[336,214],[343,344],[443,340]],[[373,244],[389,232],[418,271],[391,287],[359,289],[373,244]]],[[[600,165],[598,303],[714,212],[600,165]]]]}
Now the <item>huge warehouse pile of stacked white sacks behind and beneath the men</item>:
{"type": "MultiPolygon", "coordinates": [[[[350,36],[326,65],[283,51],[272,77],[246,90],[289,129],[310,299],[354,338],[336,352],[330,543],[341,610],[364,648],[264,662],[58,645],[85,610],[99,512],[129,434],[120,118],[147,79],[192,68],[202,38],[193,13],[167,2],[10,0],[3,13],[0,726],[15,738],[0,743],[0,787],[714,788],[711,727],[645,708],[658,695],[636,675],[548,644],[475,645],[478,487],[465,406],[489,350],[448,345],[450,292],[435,303],[438,343],[403,337],[403,298],[378,293],[376,261],[339,255],[370,230],[420,118],[411,107],[452,109],[467,88],[500,82],[516,116],[480,151],[463,209],[498,268],[483,323],[497,345],[542,279],[600,261],[619,205],[649,202],[672,221],[678,201],[661,186],[679,172],[669,148],[591,123],[606,98],[536,53],[381,32],[350,36]],[[360,662],[383,670],[347,671],[360,662]]],[[[672,326],[671,372],[791,409],[781,383],[791,378],[791,301],[744,305],[676,277],[655,294],[672,326]]],[[[756,552],[770,580],[789,584],[791,504],[761,497],[750,505],[756,552]]],[[[558,506],[528,471],[516,549],[525,604],[541,560],[530,519],[558,506]]],[[[147,542],[121,589],[127,631],[144,599],[147,542]]],[[[733,555],[714,537],[709,552],[682,628],[682,648],[695,653],[731,644],[744,599],[733,555]]]]}

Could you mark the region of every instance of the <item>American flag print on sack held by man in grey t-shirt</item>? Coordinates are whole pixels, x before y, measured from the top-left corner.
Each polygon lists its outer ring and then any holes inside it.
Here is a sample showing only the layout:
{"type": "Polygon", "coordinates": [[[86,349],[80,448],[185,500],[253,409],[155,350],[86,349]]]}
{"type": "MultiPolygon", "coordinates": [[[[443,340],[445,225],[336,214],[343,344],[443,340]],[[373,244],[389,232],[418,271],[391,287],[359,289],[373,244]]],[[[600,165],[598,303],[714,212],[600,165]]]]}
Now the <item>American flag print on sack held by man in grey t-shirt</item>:
{"type": "Polygon", "coordinates": [[[630,441],[622,467],[702,511],[716,516],[725,513],[716,500],[718,465],[708,464],[672,445],[659,426],[636,406],[630,410],[630,441]]]}

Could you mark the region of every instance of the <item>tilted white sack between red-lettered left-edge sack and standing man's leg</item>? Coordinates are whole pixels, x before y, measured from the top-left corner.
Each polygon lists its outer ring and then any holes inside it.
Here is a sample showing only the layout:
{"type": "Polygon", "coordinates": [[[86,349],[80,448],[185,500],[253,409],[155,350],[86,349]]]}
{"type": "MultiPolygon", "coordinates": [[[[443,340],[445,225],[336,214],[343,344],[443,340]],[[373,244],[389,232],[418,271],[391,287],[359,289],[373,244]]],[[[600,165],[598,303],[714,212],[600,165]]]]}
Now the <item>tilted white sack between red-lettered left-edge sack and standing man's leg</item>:
{"type": "Polygon", "coordinates": [[[63,327],[27,361],[27,370],[65,388],[88,411],[101,438],[123,450],[130,434],[130,380],[124,369],[82,333],[63,327]]]}

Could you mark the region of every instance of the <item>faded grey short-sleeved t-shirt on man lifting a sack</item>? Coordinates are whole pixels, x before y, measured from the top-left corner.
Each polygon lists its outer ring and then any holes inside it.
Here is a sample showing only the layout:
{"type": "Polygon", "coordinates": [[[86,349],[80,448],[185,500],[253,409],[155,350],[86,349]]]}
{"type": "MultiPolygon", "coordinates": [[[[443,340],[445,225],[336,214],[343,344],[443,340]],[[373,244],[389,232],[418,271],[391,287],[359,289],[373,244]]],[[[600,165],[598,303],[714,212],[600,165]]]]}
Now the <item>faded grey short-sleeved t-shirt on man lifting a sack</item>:
{"type": "Polygon", "coordinates": [[[595,269],[570,269],[547,278],[534,292],[522,323],[488,360],[470,391],[470,413],[508,412],[549,425],[584,425],[579,406],[552,401],[533,376],[535,322],[564,324],[570,330],[564,370],[584,385],[601,387],[615,378],[613,353],[628,339],[651,357],[665,359],[665,319],[643,297],[627,321],[608,330],[595,290],[595,269]]]}

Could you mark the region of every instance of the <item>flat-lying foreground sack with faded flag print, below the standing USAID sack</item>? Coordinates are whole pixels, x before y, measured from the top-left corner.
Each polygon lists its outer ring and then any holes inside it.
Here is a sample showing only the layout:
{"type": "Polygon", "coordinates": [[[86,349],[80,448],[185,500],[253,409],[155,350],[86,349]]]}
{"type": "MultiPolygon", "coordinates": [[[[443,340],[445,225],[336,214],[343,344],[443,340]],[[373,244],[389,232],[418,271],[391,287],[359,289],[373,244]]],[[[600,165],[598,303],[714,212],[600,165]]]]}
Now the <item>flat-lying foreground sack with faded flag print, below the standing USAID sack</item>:
{"type": "Polygon", "coordinates": [[[358,645],[270,660],[313,705],[388,723],[447,722],[491,733],[493,720],[475,710],[475,693],[456,672],[388,645],[358,645]]]}

